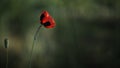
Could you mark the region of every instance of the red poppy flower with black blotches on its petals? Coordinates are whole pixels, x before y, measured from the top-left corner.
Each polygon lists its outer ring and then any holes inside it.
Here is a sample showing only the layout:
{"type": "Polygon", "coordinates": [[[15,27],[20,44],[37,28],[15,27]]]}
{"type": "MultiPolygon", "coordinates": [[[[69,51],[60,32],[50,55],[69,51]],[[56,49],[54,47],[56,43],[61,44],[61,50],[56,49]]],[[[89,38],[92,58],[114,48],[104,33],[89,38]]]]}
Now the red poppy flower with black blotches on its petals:
{"type": "Polygon", "coordinates": [[[40,23],[46,28],[53,28],[56,25],[54,19],[49,15],[47,11],[43,11],[41,13],[40,23]]]}

